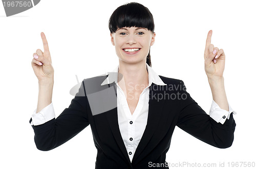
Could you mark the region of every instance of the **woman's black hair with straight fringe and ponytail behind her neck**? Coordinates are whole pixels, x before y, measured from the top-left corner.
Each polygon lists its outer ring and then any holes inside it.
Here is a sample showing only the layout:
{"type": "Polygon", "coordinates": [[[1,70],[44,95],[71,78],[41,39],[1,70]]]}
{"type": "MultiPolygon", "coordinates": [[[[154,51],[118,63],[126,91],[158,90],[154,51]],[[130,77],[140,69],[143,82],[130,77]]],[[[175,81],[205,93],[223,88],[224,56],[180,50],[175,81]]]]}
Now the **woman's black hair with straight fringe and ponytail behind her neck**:
{"type": "MultiPolygon", "coordinates": [[[[155,24],[150,10],[139,3],[128,3],[118,7],[110,17],[109,29],[115,33],[121,27],[143,27],[154,33],[155,24]]],[[[151,67],[150,51],[146,63],[151,67]]]]}

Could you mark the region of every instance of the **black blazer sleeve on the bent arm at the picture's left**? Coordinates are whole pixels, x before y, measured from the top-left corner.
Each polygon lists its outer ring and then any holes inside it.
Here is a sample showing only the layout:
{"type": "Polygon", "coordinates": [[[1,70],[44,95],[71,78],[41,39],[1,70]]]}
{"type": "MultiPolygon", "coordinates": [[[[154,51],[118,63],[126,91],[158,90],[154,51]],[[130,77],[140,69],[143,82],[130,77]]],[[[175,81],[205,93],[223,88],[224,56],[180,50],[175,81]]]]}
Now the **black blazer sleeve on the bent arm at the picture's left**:
{"type": "Polygon", "coordinates": [[[89,125],[87,116],[87,98],[82,81],[78,93],[68,108],[55,119],[34,126],[34,140],[37,149],[52,150],[74,137],[89,125]]]}

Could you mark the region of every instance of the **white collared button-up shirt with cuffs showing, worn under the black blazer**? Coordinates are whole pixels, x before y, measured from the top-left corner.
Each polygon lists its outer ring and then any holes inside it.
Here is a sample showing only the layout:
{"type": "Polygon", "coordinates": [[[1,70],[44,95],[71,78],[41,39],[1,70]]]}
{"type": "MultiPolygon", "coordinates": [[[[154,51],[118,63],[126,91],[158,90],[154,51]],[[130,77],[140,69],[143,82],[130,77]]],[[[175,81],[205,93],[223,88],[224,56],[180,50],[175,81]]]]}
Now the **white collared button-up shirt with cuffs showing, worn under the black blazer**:
{"type": "MultiPolygon", "coordinates": [[[[119,65],[112,72],[118,72],[118,68],[119,65]]],[[[115,73],[115,76],[109,75],[101,83],[101,85],[106,85],[115,81],[117,85],[118,124],[123,143],[126,147],[127,153],[129,154],[131,162],[147,124],[150,86],[152,85],[152,82],[154,82],[156,85],[167,85],[162,81],[158,74],[147,64],[146,68],[148,71],[148,86],[140,94],[139,101],[133,112],[133,115],[131,114],[130,108],[128,106],[126,96],[117,83],[117,73],[115,73]]],[[[216,122],[224,124],[226,119],[229,119],[231,112],[233,112],[233,114],[237,114],[236,111],[233,111],[230,106],[229,111],[226,111],[224,109],[221,109],[219,105],[214,100],[212,100],[209,116],[216,122]],[[223,118],[224,116],[227,118],[223,118]]],[[[53,104],[51,103],[43,108],[41,111],[39,111],[37,114],[36,109],[34,110],[32,114],[31,125],[44,124],[52,120],[53,118],[55,118],[55,113],[53,109],[53,104]]]]}

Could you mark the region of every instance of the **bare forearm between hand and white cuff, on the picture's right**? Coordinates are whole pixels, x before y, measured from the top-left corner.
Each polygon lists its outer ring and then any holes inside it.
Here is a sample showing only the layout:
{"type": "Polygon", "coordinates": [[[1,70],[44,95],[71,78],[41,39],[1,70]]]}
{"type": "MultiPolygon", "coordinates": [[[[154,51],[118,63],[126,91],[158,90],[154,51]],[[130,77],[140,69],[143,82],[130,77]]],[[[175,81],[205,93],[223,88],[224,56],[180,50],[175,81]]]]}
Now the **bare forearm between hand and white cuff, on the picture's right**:
{"type": "Polygon", "coordinates": [[[227,96],[224,87],[224,77],[209,78],[208,82],[211,89],[212,98],[220,106],[220,108],[229,111],[227,96]]]}

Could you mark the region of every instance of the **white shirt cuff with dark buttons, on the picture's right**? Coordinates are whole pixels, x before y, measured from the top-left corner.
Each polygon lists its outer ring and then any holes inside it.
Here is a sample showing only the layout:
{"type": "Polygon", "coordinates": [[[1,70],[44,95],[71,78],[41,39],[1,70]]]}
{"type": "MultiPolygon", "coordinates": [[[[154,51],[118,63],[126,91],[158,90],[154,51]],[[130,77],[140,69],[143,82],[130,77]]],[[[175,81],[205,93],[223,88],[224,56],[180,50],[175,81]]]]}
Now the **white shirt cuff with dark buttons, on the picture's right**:
{"type": "Polygon", "coordinates": [[[229,111],[220,108],[220,106],[214,100],[212,100],[209,115],[217,123],[224,124],[226,119],[229,119],[231,112],[233,113],[233,115],[237,114],[237,112],[230,107],[229,103],[228,110],[229,111]]]}

